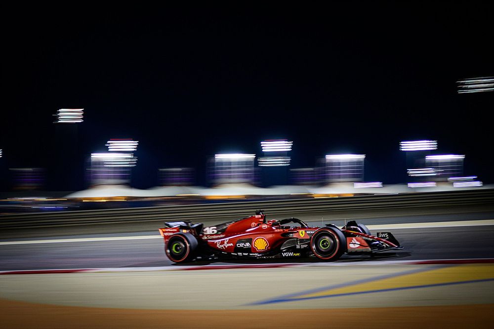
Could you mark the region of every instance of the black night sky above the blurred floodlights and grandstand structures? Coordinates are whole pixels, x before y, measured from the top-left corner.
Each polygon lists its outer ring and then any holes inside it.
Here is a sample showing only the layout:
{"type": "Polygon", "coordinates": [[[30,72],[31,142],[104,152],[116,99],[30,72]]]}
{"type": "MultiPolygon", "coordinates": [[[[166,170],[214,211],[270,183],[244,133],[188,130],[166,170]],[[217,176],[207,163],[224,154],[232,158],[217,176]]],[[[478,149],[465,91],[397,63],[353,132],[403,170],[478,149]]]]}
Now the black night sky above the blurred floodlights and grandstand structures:
{"type": "Polygon", "coordinates": [[[294,142],[292,167],[362,153],[366,181],[384,183],[406,183],[400,141],[437,140],[434,153],[465,154],[465,174],[493,183],[494,92],[455,83],[494,75],[493,5],[344,3],[7,8],[0,189],[18,167],[46,168],[46,189],[82,189],[84,160],[111,138],[139,141],[138,188],[172,166],[205,184],[209,156],[260,155],[274,138],[294,142]],[[67,158],[60,108],[84,108],[67,158]]]}

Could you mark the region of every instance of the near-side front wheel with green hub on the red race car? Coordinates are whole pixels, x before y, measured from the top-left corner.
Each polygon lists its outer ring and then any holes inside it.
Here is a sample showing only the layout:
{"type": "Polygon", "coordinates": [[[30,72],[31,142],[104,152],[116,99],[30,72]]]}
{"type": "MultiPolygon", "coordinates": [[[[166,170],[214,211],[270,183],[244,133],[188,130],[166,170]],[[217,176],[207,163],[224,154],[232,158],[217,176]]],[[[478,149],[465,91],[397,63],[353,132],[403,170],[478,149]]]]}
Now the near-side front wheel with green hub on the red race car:
{"type": "Polygon", "coordinates": [[[316,257],[327,261],[336,260],[345,251],[345,237],[339,230],[324,227],[312,235],[310,247],[316,257]]]}

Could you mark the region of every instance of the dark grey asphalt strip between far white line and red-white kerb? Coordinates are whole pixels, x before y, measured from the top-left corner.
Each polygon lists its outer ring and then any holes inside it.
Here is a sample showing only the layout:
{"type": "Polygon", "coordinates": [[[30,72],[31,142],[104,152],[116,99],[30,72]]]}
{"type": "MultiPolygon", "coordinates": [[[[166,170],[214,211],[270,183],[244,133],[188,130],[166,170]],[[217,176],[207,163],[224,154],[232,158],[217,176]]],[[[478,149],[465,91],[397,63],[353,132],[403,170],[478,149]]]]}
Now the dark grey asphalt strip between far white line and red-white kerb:
{"type": "MultiPolygon", "coordinates": [[[[472,216],[466,218],[471,218],[472,216]]],[[[438,222],[447,219],[464,219],[465,216],[441,216],[438,222]]],[[[486,213],[477,215],[475,219],[493,219],[494,215],[486,213]]],[[[421,222],[431,217],[414,217],[405,222],[421,222]]],[[[373,220],[368,225],[382,223],[373,220]]],[[[403,218],[385,220],[387,224],[403,223],[403,218]]],[[[317,221],[309,221],[313,225],[321,225],[317,221]]],[[[343,223],[337,223],[342,225],[343,223]]],[[[414,260],[414,259],[449,259],[449,258],[490,258],[494,257],[494,225],[406,228],[390,230],[405,249],[393,254],[378,254],[377,259],[414,260]]],[[[375,230],[371,230],[375,233],[375,230]]],[[[157,231],[134,232],[126,234],[85,234],[79,236],[58,236],[57,239],[84,238],[88,241],[30,243],[17,245],[0,245],[0,271],[60,269],[60,268],[100,268],[100,267],[146,267],[168,266],[171,262],[166,258],[164,244],[157,231]],[[125,239],[131,236],[151,236],[156,239],[125,239]],[[91,238],[113,237],[122,240],[92,241],[91,238]]],[[[42,237],[40,237],[42,239],[42,237]]],[[[16,239],[16,241],[32,241],[34,239],[16,239]]],[[[8,241],[8,240],[1,240],[8,241]]],[[[0,241],[0,243],[1,243],[0,241]]],[[[343,257],[338,262],[367,261],[369,257],[343,257]]],[[[276,259],[275,262],[283,262],[276,259]]],[[[286,261],[305,262],[310,259],[287,258],[286,261]]],[[[263,262],[263,261],[261,261],[263,262]]],[[[264,262],[273,262],[268,260],[264,262]]],[[[198,262],[195,264],[209,264],[198,262]]],[[[225,262],[212,262],[224,264],[225,262]]],[[[245,263],[245,261],[228,261],[227,263],[245,263]]],[[[190,265],[190,264],[187,264],[190,265]]],[[[180,265],[177,265],[180,266],[180,265]]]]}

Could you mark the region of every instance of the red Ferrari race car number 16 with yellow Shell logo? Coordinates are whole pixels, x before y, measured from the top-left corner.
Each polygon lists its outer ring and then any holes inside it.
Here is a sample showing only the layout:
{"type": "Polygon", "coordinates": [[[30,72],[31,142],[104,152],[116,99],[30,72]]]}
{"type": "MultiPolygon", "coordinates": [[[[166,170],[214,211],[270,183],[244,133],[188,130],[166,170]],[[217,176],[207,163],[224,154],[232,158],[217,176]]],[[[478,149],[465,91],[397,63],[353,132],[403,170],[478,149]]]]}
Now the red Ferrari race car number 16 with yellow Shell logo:
{"type": "Polygon", "coordinates": [[[403,249],[389,232],[371,235],[355,220],[341,229],[334,224],[309,227],[296,218],[266,221],[257,211],[254,216],[204,227],[202,223],[165,222],[160,228],[165,252],[175,262],[194,259],[317,257],[332,261],[341,255],[373,254],[403,249]]]}

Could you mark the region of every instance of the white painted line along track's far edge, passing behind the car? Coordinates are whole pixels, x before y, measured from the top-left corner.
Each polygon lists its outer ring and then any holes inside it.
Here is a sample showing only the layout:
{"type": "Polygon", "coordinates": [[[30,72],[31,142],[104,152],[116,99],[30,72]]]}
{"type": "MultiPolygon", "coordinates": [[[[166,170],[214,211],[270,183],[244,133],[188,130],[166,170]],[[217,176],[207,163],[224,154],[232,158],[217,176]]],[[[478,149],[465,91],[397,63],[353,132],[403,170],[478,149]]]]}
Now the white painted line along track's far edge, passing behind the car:
{"type": "MultiPolygon", "coordinates": [[[[384,224],[368,225],[371,230],[382,229],[405,229],[405,228],[431,228],[431,227],[454,227],[454,226],[479,226],[494,225],[494,219],[485,220],[459,220],[459,221],[440,221],[428,223],[405,223],[405,224],[384,224]]],[[[123,241],[123,240],[147,240],[162,239],[161,235],[137,235],[137,236],[110,236],[100,238],[73,238],[73,239],[46,239],[46,240],[20,240],[20,241],[2,241],[0,246],[6,245],[31,245],[42,243],[62,243],[62,242],[95,242],[95,241],[123,241]]]]}

